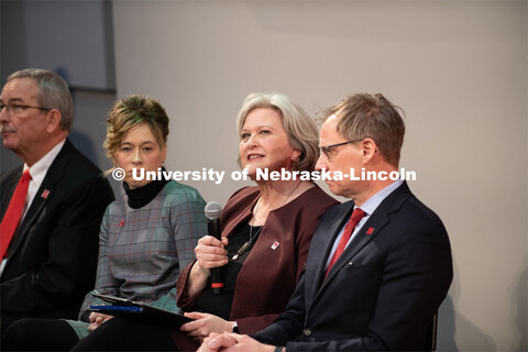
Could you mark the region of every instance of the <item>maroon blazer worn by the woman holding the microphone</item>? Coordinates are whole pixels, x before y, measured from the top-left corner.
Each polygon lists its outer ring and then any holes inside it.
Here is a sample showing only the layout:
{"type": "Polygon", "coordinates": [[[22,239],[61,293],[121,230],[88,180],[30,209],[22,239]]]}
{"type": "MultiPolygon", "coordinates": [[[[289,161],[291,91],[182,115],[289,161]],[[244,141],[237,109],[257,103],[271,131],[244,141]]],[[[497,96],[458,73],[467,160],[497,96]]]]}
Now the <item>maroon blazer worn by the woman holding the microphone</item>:
{"type": "MultiPolygon", "coordinates": [[[[229,238],[239,223],[250,220],[251,209],[260,195],[258,187],[245,187],[229,199],[221,217],[222,237],[229,238]]],[[[305,270],[319,220],[337,204],[316,186],[270,212],[237,277],[231,320],[237,321],[241,333],[253,333],[267,327],[285,310],[305,270]]],[[[199,294],[187,296],[187,279],[193,265],[190,263],[182,272],[177,284],[177,302],[184,311],[191,311],[199,297],[199,294]]]]}

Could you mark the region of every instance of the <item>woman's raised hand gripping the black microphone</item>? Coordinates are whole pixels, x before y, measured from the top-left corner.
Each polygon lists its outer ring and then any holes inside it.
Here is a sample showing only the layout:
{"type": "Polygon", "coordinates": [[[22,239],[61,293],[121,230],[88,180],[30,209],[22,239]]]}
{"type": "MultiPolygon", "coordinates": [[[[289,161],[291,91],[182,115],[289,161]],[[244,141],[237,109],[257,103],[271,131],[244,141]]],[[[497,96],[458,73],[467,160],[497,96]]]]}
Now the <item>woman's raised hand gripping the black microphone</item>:
{"type": "Polygon", "coordinates": [[[194,296],[201,292],[206,285],[207,279],[211,275],[211,268],[228,264],[228,239],[215,239],[211,235],[202,237],[198,240],[198,245],[195,249],[196,263],[193,265],[189,274],[189,284],[187,294],[194,296]]]}

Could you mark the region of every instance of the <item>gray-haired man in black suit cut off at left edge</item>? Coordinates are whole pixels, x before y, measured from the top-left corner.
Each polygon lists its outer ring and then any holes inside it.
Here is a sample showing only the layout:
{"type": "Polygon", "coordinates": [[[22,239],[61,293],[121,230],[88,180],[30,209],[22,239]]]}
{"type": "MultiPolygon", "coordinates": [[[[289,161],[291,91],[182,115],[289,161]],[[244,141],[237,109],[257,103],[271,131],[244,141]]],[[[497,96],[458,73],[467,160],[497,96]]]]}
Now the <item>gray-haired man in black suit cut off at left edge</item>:
{"type": "Polygon", "coordinates": [[[67,139],[72,121],[59,76],[31,68],[8,77],[0,131],[23,165],[0,176],[2,332],[26,317],[76,318],[94,287],[99,227],[113,194],[67,139]]]}

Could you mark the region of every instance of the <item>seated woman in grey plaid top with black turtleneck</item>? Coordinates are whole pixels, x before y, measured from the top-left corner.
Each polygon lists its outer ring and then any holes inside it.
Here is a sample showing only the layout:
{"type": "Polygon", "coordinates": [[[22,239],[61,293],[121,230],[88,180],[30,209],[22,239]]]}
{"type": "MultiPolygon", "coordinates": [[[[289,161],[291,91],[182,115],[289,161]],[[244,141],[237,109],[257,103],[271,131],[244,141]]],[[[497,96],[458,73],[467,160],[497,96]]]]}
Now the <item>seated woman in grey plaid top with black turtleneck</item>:
{"type": "MultiPolygon", "coordinates": [[[[207,233],[205,201],[196,189],[175,180],[132,177],[133,168],[157,170],[165,162],[168,117],[157,101],[140,96],[118,101],[107,130],[107,155],[125,173],[125,195],[105,213],[96,290],[178,311],[176,282],[207,233]]],[[[4,349],[68,351],[112,319],[87,310],[101,304],[88,293],[78,321],[21,320],[6,332],[4,349]]]]}

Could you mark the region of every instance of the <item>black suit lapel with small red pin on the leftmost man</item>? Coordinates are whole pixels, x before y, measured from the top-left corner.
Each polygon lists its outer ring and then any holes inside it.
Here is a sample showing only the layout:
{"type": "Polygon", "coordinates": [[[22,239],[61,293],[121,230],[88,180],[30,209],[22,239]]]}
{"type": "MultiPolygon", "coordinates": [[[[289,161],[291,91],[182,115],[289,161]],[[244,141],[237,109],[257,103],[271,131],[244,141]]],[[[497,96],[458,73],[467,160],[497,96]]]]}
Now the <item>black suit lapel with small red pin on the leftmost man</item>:
{"type": "Polygon", "coordinates": [[[74,151],[73,144],[66,140],[61,152],[57,154],[52,165],[47,169],[46,176],[44,177],[41,187],[35,194],[33,201],[28,209],[28,212],[24,217],[24,220],[19,227],[18,232],[13,237],[13,243],[9,250],[8,258],[14,255],[23,243],[24,238],[28,235],[28,232],[31,226],[38,219],[38,216],[45,208],[45,205],[55,194],[55,185],[62,180],[66,165],[68,164],[72,153],[74,151]]]}

